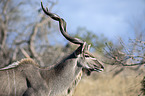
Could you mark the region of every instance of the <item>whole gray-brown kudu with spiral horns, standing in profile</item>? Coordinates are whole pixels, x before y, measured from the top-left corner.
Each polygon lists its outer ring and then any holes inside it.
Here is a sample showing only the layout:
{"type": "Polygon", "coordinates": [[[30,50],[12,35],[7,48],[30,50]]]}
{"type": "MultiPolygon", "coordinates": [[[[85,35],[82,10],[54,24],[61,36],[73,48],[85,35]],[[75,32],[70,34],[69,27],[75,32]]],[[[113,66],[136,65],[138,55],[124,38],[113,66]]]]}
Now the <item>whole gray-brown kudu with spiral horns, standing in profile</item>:
{"type": "MultiPolygon", "coordinates": [[[[45,14],[59,21],[63,36],[79,47],[65,59],[52,67],[40,67],[33,59],[17,61],[0,69],[0,96],[66,96],[81,79],[82,71],[90,75],[92,71],[104,69],[90,52],[89,45],[66,32],[66,22],[43,7],[45,14]]],[[[49,63],[49,62],[48,62],[49,63]]]]}

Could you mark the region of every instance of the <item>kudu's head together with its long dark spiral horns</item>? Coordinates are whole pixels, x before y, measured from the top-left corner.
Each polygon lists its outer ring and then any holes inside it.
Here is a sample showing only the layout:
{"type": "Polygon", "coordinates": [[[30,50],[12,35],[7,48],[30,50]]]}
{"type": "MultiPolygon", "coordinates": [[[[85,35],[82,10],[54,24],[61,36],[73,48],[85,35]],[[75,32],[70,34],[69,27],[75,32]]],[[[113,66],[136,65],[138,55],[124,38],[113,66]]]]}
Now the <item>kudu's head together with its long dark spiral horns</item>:
{"type": "Polygon", "coordinates": [[[43,7],[42,1],[41,1],[41,7],[44,13],[48,16],[50,16],[53,20],[56,20],[59,22],[59,27],[62,35],[70,42],[74,44],[80,45],[74,52],[75,57],[78,58],[77,60],[77,65],[79,67],[82,67],[83,71],[87,74],[90,75],[92,71],[97,71],[100,72],[104,69],[102,63],[97,60],[90,52],[90,45],[88,45],[86,42],[78,39],[71,37],[66,30],[66,22],[63,18],[60,18],[58,15],[53,14],[48,11],[48,9],[43,7]]]}

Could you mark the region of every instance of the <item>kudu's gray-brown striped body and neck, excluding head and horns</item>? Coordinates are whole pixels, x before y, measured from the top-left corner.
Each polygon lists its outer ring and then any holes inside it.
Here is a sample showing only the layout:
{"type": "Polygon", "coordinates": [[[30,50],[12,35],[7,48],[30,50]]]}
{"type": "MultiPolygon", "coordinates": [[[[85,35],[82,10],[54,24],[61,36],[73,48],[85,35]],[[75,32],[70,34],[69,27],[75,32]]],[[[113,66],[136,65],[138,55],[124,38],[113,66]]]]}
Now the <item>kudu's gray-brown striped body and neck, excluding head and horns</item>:
{"type": "MultiPolygon", "coordinates": [[[[81,47],[51,69],[39,68],[32,59],[0,71],[0,96],[66,96],[81,79],[81,47]],[[79,53],[79,54],[78,54],[79,53]],[[77,54],[77,55],[76,55],[77,54]],[[78,80],[78,81],[77,81],[78,80]]],[[[81,56],[82,55],[82,56],[81,56]]],[[[85,65],[84,65],[85,66],[85,65]]]]}

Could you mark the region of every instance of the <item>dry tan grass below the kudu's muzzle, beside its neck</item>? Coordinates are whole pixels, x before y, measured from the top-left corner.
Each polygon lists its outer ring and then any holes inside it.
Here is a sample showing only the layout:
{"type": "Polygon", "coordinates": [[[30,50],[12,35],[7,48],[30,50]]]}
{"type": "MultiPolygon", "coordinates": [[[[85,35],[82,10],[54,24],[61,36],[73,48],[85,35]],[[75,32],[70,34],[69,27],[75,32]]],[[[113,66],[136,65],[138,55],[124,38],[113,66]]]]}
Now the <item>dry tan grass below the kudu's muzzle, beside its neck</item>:
{"type": "Polygon", "coordinates": [[[122,72],[114,78],[108,72],[84,76],[74,96],[138,96],[143,75],[133,71],[127,73],[122,72]]]}

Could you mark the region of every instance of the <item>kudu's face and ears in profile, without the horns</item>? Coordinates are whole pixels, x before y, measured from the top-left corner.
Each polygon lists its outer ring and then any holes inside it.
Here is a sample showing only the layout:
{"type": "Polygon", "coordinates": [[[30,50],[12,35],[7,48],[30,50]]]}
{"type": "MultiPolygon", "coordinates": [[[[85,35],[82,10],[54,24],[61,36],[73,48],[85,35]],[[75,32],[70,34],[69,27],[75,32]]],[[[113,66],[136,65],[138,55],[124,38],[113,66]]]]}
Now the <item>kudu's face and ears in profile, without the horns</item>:
{"type": "Polygon", "coordinates": [[[101,61],[97,60],[90,52],[90,45],[83,43],[74,52],[75,56],[78,58],[78,66],[83,68],[83,72],[90,75],[92,71],[101,72],[104,66],[101,61]]]}

